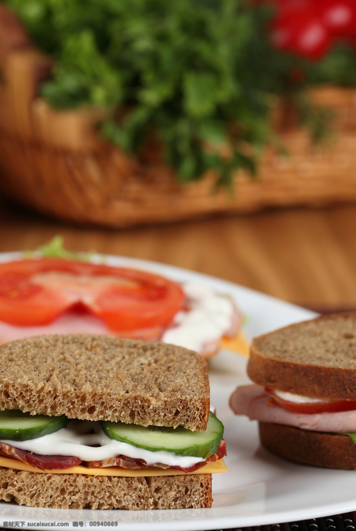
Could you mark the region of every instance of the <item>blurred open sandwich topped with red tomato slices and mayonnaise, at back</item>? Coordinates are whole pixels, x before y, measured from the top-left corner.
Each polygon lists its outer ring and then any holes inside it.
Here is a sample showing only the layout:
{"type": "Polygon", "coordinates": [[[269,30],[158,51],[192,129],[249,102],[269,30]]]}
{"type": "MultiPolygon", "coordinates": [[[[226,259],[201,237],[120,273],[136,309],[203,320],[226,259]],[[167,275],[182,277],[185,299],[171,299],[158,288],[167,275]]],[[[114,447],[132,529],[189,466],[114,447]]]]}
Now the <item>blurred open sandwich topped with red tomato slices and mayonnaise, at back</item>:
{"type": "Polygon", "coordinates": [[[40,252],[0,263],[0,342],[53,333],[160,340],[205,357],[221,341],[242,353],[232,298],[146,271],[90,262],[57,236],[40,252]]]}

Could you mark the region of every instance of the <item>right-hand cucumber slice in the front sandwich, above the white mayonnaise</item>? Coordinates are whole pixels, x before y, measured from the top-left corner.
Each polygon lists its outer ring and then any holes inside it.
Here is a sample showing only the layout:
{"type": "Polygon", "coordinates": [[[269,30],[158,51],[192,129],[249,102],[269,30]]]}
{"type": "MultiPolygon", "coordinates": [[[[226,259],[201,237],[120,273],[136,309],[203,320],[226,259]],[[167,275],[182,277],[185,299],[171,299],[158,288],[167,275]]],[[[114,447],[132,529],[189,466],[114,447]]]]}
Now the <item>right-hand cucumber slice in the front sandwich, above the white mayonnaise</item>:
{"type": "Polygon", "coordinates": [[[133,446],[156,452],[165,450],[178,456],[207,457],[217,452],[224,426],[213,413],[209,413],[206,431],[190,431],[182,426],[138,426],[123,422],[101,421],[105,434],[110,439],[127,442],[133,446]]]}

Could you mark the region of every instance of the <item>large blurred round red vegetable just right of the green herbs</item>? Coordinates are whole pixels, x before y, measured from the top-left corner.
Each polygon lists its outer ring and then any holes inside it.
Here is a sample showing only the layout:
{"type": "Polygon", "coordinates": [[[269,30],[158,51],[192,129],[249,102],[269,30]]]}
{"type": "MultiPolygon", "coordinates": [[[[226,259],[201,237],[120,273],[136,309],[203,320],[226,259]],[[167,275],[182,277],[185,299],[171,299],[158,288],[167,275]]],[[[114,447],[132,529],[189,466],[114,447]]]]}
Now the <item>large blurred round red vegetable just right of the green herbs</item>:
{"type": "Polygon", "coordinates": [[[332,45],[328,29],[309,4],[290,4],[283,8],[272,25],[272,43],[276,48],[307,59],[319,59],[332,45]]]}

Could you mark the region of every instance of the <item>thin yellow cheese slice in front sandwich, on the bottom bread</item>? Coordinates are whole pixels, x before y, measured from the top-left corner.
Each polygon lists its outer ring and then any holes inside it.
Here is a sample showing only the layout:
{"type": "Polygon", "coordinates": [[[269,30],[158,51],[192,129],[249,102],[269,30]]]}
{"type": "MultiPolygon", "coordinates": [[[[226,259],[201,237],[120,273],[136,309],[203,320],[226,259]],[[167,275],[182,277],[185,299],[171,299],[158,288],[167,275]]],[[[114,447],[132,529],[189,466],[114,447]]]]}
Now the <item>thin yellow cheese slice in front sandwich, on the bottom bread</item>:
{"type": "Polygon", "coordinates": [[[194,472],[182,472],[182,470],[169,470],[158,468],[129,470],[118,466],[105,468],[87,468],[85,466],[73,466],[72,468],[60,470],[40,470],[34,466],[22,463],[17,459],[0,456],[0,467],[14,468],[15,470],[25,470],[26,472],[38,472],[41,474],[87,474],[90,476],[123,476],[123,477],[142,477],[142,476],[184,476],[185,474],[218,474],[219,472],[228,472],[224,459],[219,459],[215,463],[207,463],[205,466],[194,470],[194,472]]]}

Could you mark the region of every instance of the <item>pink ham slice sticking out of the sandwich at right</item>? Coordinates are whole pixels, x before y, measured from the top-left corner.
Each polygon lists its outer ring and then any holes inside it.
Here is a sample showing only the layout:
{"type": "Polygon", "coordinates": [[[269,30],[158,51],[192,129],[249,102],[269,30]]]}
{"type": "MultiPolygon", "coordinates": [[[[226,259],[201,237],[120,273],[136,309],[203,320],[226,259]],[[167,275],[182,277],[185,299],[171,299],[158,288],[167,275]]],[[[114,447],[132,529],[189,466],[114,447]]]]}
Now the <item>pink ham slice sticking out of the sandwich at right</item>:
{"type": "Polygon", "coordinates": [[[247,415],[251,420],[285,424],[311,431],[356,432],[356,409],[333,413],[292,413],[274,404],[260,386],[238,387],[231,395],[230,407],[236,415],[247,415]]]}

